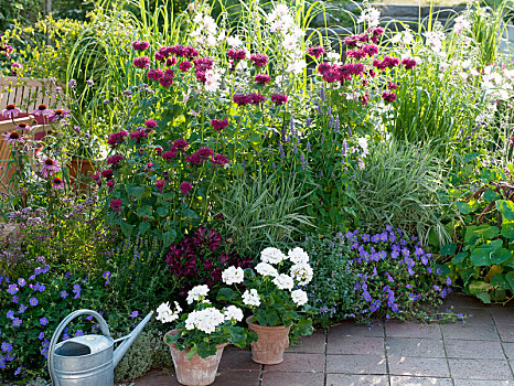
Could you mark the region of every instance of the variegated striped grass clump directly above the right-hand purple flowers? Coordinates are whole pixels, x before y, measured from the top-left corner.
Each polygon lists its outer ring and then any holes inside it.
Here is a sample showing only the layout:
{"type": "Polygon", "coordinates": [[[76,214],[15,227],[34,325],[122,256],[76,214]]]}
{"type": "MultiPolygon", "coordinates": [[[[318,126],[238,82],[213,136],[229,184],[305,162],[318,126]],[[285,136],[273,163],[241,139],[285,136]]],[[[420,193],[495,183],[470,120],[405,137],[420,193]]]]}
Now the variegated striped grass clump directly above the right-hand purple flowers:
{"type": "Polygon", "coordinates": [[[441,222],[446,190],[443,167],[430,144],[414,146],[392,139],[371,146],[366,167],[355,178],[357,223],[378,229],[385,225],[446,244],[449,235],[441,222]]]}

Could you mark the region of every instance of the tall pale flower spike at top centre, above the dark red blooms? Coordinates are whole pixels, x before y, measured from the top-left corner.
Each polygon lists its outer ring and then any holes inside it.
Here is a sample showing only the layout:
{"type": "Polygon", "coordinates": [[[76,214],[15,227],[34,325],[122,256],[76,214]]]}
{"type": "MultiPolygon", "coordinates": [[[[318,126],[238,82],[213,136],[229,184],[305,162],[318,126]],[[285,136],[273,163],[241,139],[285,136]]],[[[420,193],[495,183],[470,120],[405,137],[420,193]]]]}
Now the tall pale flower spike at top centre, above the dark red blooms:
{"type": "Polygon", "coordinates": [[[287,55],[286,72],[296,75],[301,74],[307,67],[303,52],[300,47],[301,39],[306,32],[297,25],[295,18],[291,15],[288,6],[277,4],[267,18],[269,31],[279,34],[282,41],[282,47],[287,55]]]}

